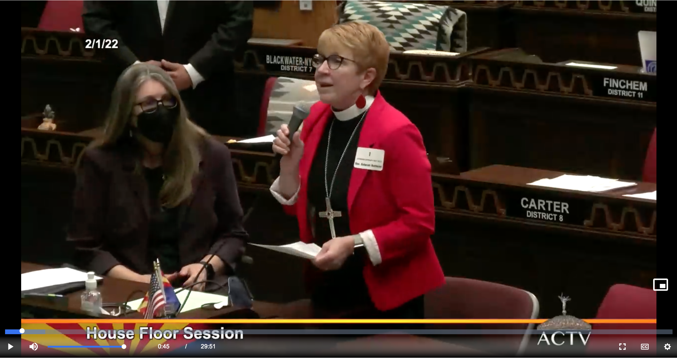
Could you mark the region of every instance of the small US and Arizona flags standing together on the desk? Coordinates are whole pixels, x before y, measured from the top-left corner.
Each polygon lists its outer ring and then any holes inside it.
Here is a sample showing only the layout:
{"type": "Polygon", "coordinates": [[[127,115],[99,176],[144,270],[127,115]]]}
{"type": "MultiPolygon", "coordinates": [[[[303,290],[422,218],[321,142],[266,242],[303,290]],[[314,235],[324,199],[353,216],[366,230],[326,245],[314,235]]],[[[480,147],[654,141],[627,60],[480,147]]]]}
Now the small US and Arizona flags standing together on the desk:
{"type": "Polygon", "coordinates": [[[154,270],[150,276],[150,290],[146,292],[144,300],[137,311],[144,315],[144,319],[154,317],[169,317],[179,311],[179,298],[174,293],[174,288],[169,279],[162,275],[160,261],[153,263],[154,270]]]}

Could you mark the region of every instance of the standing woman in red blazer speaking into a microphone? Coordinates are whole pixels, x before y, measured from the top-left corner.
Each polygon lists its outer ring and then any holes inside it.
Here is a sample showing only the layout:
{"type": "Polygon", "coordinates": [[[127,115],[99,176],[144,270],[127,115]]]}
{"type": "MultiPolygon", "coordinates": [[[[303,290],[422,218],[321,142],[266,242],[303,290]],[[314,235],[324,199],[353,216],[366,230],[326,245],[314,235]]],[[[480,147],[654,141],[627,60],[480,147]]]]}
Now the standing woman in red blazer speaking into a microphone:
{"type": "Polygon", "coordinates": [[[301,133],[290,140],[283,126],[273,142],[282,160],[271,193],[297,216],[301,240],[322,246],[318,316],[420,319],[423,295],[444,282],[422,137],[378,92],[389,51],[368,24],[325,30],[313,58],[321,102],[301,133]]]}

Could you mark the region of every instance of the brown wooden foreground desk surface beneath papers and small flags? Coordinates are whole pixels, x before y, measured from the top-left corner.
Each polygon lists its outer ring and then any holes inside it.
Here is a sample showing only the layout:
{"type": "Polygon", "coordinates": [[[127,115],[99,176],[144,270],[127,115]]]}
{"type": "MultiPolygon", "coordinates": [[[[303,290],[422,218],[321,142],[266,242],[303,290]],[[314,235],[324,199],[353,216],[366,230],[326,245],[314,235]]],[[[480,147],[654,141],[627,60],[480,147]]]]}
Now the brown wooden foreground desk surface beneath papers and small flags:
{"type": "MultiPolygon", "coordinates": [[[[44,265],[37,265],[34,263],[21,263],[21,273],[37,271],[40,269],[49,269],[50,267],[44,265]]],[[[135,294],[130,300],[135,300],[137,298],[142,298],[145,292],[148,290],[148,284],[143,284],[141,282],[127,281],[125,279],[114,279],[110,277],[104,277],[104,281],[99,285],[98,290],[101,292],[104,303],[125,303],[129,298],[129,295],[135,291],[140,291],[140,293],[135,294]]],[[[82,291],[72,292],[67,294],[68,297],[68,307],[65,308],[66,311],[76,314],[85,314],[80,310],[80,295],[82,291]]],[[[30,299],[22,300],[22,305],[34,305],[37,307],[43,307],[46,309],[54,309],[58,311],[63,311],[64,307],[58,307],[57,305],[45,304],[41,301],[35,301],[30,299]]],[[[229,313],[232,313],[233,316],[237,316],[237,312],[240,309],[236,307],[225,307],[219,310],[206,310],[206,309],[194,309],[188,312],[179,313],[177,318],[183,319],[209,319],[215,317],[230,316],[229,313]]],[[[286,317],[286,318],[310,318],[310,307],[308,301],[297,301],[288,304],[275,304],[275,303],[266,303],[255,301],[252,307],[252,310],[255,311],[261,318],[277,318],[277,317],[286,317]]],[[[235,318],[233,317],[233,318],[235,318]]],[[[128,314],[127,316],[118,316],[118,317],[102,317],[102,318],[141,318],[140,313],[128,314]]]]}

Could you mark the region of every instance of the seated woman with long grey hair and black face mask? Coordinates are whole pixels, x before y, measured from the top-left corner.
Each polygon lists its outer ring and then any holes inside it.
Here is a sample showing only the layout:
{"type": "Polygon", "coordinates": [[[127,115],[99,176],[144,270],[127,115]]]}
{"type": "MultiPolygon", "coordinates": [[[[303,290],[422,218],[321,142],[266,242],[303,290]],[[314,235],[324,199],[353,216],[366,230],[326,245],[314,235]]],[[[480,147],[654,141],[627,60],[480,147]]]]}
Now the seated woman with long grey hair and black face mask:
{"type": "Polygon", "coordinates": [[[68,240],[79,266],[149,282],[159,259],[172,282],[225,282],[246,239],[226,146],[188,119],[164,70],[127,68],[77,166],[68,240]]]}

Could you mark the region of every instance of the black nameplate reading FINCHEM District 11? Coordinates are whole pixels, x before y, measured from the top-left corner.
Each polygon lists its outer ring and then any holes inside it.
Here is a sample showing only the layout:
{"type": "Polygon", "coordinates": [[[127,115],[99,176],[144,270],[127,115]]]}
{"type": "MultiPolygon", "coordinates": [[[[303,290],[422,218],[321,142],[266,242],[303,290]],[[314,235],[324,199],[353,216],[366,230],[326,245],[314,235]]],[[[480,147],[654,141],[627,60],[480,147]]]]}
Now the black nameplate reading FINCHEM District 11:
{"type": "Polygon", "coordinates": [[[641,77],[644,78],[623,76],[622,73],[603,74],[594,79],[593,93],[600,97],[656,102],[655,76],[645,75],[641,77]],[[653,79],[649,77],[653,77],[653,79]]]}

